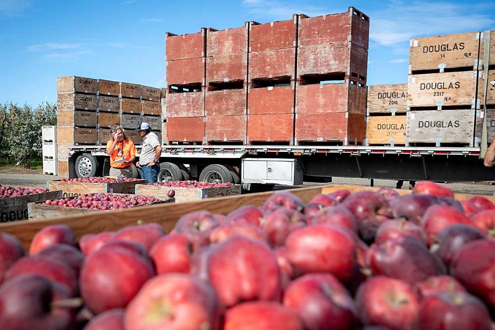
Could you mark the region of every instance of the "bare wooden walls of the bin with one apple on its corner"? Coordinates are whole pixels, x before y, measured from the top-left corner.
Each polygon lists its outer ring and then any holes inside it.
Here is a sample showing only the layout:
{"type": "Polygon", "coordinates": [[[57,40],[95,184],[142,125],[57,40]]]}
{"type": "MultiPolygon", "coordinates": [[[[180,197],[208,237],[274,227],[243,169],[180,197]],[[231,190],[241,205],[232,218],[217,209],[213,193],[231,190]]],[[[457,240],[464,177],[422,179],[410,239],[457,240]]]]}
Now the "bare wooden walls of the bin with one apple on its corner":
{"type": "MultiPolygon", "coordinates": [[[[165,198],[166,199],[163,201],[156,201],[148,205],[136,205],[132,207],[142,208],[144,206],[172,203],[175,201],[175,198],[169,198],[169,197],[165,197],[165,198]]],[[[40,219],[63,218],[71,215],[95,214],[99,212],[108,212],[110,210],[95,210],[95,209],[81,209],[75,207],[52,206],[52,205],[41,204],[41,202],[33,202],[28,204],[27,211],[28,211],[29,220],[40,220],[40,219]]]]}

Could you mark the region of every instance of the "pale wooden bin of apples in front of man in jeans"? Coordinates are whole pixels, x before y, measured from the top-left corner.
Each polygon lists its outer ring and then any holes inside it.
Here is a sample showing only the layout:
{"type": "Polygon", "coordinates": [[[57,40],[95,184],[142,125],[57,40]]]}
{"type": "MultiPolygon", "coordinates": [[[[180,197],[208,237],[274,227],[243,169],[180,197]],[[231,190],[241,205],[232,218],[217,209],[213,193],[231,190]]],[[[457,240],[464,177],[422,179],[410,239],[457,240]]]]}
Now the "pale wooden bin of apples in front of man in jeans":
{"type": "Polygon", "coordinates": [[[178,202],[195,201],[203,198],[224,197],[241,194],[241,185],[228,183],[207,183],[194,180],[157,182],[153,184],[136,185],[135,194],[166,198],[168,191],[175,191],[178,202]]]}

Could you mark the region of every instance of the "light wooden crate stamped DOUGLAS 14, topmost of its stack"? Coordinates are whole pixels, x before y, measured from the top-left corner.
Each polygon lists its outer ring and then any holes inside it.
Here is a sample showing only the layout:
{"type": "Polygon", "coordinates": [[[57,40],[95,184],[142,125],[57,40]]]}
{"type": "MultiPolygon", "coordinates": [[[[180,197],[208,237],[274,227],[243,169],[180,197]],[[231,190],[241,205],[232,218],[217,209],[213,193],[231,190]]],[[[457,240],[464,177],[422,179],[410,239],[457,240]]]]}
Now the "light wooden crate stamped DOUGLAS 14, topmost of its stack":
{"type": "Polygon", "coordinates": [[[478,68],[480,33],[468,32],[411,39],[409,74],[424,70],[478,68]]]}

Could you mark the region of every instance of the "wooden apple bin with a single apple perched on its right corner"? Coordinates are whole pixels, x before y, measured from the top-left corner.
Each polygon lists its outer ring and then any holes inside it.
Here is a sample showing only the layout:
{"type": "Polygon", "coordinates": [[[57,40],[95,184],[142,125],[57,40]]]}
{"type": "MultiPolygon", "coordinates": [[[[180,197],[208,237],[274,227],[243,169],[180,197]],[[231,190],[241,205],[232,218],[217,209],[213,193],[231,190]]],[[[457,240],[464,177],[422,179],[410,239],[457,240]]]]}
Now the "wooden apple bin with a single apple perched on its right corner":
{"type": "Polygon", "coordinates": [[[170,203],[174,201],[175,199],[173,197],[160,199],[153,196],[96,192],[29,203],[28,217],[29,220],[50,219],[103,210],[126,209],[135,206],[170,203]]]}

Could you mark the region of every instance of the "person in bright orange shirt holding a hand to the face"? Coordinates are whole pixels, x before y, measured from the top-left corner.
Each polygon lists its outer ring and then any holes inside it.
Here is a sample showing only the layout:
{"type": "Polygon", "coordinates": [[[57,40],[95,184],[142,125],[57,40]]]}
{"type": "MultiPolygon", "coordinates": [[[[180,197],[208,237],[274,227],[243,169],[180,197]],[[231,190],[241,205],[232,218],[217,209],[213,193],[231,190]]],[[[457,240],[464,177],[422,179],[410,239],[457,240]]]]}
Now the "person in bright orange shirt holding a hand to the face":
{"type": "Polygon", "coordinates": [[[115,125],[110,131],[112,140],[106,143],[106,153],[110,155],[110,176],[137,177],[138,171],[132,163],[136,158],[136,146],[127,138],[124,129],[115,125]],[[134,167],[134,170],[132,169],[134,167]]]}

